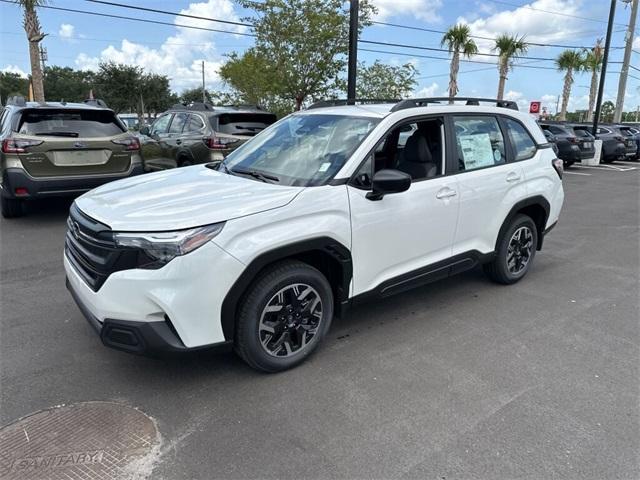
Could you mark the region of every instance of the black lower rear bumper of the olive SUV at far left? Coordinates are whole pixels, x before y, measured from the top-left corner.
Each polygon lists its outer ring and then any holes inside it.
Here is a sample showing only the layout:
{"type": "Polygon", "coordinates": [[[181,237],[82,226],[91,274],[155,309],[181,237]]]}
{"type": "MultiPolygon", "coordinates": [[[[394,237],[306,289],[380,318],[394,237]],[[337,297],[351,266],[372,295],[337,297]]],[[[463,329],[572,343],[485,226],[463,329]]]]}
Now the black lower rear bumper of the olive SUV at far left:
{"type": "Polygon", "coordinates": [[[78,177],[32,177],[21,168],[7,168],[2,174],[2,195],[8,198],[62,197],[88,192],[100,185],[144,173],[142,164],[118,174],[86,175],[78,177]],[[26,188],[26,194],[16,195],[17,188],[26,188]]]}

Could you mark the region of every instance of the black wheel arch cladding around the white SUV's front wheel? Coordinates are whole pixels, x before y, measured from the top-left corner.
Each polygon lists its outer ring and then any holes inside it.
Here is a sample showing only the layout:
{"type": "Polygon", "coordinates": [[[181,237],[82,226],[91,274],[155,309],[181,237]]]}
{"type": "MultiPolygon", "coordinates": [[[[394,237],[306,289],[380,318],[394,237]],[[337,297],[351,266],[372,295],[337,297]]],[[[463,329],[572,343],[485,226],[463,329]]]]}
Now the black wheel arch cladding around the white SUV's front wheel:
{"type": "Polygon", "coordinates": [[[262,253],[247,265],[222,302],[221,322],[226,341],[234,339],[238,306],[247,288],[266,268],[290,259],[307,263],[322,272],[333,290],[336,315],[340,315],[349,301],[353,275],[351,252],[330,237],[304,240],[262,253]]]}

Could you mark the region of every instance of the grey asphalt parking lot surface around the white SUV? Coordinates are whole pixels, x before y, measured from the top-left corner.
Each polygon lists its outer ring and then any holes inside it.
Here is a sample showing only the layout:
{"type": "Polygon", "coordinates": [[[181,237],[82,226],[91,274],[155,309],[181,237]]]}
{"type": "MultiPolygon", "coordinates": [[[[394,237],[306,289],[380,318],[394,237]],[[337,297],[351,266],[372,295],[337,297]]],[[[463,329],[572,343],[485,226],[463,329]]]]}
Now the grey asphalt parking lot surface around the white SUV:
{"type": "Polygon", "coordinates": [[[640,478],[640,170],[575,168],[512,287],[473,271],[359,307],[299,368],[104,348],[64,286],[69,202],[0,223],[0,424],[139,408],[153,479],[640,478]]]}

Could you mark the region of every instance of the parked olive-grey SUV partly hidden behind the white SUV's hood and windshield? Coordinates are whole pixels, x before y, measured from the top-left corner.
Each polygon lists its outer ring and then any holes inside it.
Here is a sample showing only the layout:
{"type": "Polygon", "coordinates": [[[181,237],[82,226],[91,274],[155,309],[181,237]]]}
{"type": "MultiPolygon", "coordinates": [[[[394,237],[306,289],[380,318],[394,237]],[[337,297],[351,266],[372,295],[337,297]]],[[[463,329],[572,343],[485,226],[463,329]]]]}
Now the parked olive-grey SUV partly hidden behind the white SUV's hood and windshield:
{"type": "Polygon", "coordinates": [[[256,106],[174,105],[140,130],[145,169],[220,162],[275,121],[256,106]]]}

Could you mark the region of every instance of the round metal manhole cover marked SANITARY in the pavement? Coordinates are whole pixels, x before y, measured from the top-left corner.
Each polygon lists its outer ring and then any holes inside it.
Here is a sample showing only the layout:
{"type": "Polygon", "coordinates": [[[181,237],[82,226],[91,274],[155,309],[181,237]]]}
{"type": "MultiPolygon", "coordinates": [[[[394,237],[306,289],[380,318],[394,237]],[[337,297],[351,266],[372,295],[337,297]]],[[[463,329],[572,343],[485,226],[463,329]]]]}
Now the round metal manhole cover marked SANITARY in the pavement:
{"type": "Polygon", "coordinates": [[[0,429],[0,478],[143,479],[160,436],[144,413],[88,402],[34,413],[0,429]]]}

